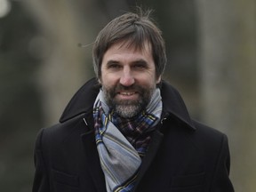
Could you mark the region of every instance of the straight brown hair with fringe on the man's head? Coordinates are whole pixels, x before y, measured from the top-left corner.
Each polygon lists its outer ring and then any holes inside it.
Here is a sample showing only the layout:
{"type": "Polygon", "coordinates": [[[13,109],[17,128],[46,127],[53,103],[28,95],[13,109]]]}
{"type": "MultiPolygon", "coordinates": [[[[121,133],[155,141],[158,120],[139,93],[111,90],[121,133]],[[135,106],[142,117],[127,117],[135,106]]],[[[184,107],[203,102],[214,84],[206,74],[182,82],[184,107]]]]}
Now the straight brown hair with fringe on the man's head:
{"type": "Polygon", "coordinates": [[[128,46],[143,49],[145,42],[151,45],[152,56],[156,65],[156,77],[164,73],[166,54],[162,32],[149,18],[151,10],[139,13],[127,12],[111,20],[97,36],[92,51],[93,67],[98,78],[101,77],[101,62],[108,48],[118,41],[126,41],[128,46]]]}

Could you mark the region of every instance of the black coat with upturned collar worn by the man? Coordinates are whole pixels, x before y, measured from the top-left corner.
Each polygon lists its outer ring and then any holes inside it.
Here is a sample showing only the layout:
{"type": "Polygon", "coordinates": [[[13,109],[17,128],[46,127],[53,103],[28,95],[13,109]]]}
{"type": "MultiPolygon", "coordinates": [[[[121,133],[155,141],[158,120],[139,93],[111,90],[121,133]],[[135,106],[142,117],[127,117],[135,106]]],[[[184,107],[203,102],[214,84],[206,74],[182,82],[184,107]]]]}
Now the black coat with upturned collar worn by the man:
{"type": "MultiPolygon", "coordinates": [[[[60,124],[36,139],[33,192],[106,192],[95,143],[92,79],[68,103],[60,124]]],[[[232,192],[226,135],[192,120],[170,84],[161,86],[163,118],[142,160],[136,192],[232,192]]]]}

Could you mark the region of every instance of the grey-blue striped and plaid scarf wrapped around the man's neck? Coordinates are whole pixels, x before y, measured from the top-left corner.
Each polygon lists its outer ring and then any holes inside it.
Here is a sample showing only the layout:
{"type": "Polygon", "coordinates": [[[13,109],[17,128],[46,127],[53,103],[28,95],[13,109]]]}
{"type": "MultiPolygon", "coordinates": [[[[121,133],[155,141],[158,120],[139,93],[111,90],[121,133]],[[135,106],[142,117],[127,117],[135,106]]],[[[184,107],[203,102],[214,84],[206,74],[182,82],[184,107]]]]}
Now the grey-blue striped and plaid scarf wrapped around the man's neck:
{"type": "Polygon", "coordinates": [[[145,154],[150,140],[148,132],[159,122],[161,113],[159,89],[154,92],[146,112],[132,121],[113,116],[100,91],[94,102],[93,117],[100,165],[108,192],[132,191],[141,164],[140,155],[145,154]],[[125,132],[130,134],[124,137],[125,132]]]}

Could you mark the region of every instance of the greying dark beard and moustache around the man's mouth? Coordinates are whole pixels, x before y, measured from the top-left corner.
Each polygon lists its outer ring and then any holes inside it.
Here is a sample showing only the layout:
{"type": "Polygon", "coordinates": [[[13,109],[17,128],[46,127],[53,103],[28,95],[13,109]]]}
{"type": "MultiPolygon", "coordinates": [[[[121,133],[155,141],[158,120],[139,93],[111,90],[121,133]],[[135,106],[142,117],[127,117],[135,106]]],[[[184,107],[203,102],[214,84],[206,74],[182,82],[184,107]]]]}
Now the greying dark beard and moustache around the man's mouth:
{"type": "Polygon", "coordinates": [[[145,88],[136,84],[128,87],[122,84],[117,84],[113,87],[102,86],[102,91],[108,104],[108,108],[114,110],[118,116],[124,118],[137,116],[142,110],[146,109],[155,89],[156,87],[150,87],[148,89],[148,87],[145,88]],[[139,97],[137,100],[118,100],[116,94],[120,91],[135,91],[138,92],[139,97]]]}

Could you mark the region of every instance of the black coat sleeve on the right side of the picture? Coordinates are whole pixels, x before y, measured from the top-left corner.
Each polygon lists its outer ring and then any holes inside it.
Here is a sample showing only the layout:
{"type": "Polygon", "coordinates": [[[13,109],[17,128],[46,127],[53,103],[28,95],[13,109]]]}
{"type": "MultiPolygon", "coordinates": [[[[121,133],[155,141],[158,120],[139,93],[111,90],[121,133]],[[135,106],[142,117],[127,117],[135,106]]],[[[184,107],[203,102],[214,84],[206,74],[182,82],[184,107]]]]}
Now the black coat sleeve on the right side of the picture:
{"type": "Polygon", "coordinates": [[[228,148],[228,138],[223,135],[220,155],[216,164],[214,178],[212,180],[212,192],[234,192],[229,180],[230,155],[228,148]]]}

